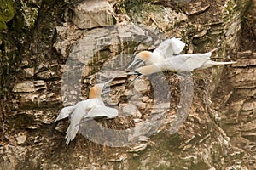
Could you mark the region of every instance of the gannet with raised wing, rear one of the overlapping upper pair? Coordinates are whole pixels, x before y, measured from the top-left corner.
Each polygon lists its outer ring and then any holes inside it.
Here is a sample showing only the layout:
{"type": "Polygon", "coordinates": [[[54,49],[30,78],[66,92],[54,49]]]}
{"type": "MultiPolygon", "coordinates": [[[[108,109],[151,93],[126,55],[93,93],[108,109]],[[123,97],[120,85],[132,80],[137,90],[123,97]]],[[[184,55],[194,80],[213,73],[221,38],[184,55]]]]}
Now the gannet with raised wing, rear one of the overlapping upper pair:
{"type": "Polygon", "coordinates": [[[161,42],[159,47],[154,49],[153,52],[142,51],[138,53],[127,69],[129,69],[132,65],[136,65],[137,63],[139,63],[137,68],[142,65],[143,62],[145,65],[159,63],[168,57],[172,57],[173,54],[179,54],[183,51],[184,47],[184,42],[180,41],[178,38],[172,37],[171,39],[161,42]]]}

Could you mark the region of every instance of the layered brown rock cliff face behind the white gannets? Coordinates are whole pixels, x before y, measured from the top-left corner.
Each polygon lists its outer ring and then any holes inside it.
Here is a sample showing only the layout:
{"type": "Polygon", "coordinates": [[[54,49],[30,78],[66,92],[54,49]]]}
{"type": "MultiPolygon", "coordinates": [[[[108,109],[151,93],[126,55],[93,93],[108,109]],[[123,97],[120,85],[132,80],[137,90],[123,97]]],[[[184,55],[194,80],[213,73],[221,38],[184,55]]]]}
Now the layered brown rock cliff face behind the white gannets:
{"type": "Polygon", "coordinates": [[[256,167],[255,1],[8,4],[0,60],[3,169],[256,167]],[[237,64],[166,72],[129,86],[133,54],[166,37],[182,37],[183,53],[219,47],[213,58],[237,64]],[[68,146],[68,120],[49,137],[63,106],[87,99],[93,84],[111,77],[112,92],[102,98],[119,117],[83,123],[68,146]]]}

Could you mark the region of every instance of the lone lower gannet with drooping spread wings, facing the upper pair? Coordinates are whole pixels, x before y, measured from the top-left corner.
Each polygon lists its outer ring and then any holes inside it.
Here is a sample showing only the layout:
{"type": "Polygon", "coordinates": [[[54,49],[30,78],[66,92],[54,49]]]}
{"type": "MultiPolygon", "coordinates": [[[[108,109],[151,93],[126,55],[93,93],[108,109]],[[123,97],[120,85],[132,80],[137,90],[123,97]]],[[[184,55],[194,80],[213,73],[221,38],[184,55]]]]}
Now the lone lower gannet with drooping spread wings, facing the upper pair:
{"type": "MultiPolygon", "coordinates": [[[[109,81],[107,83],[109,83],[109,81]]],[[[107,83],[96,84],[94,87],[90,88],[89,99],[80,101],[76,105],[67,106],[61,109],[61,112],[55,119],[55,122],[59,122],[61,119],[67,117],[70,118],[70,124],[66,131],[67,144],[69,144],[69,142],[73,140],[79,132],[80,122],[83,119],[99,117],[110,119],[118,115],[118,111],[116,109],[105,106],[102,101],[102,90],[105,88],[107,83]]]]}

